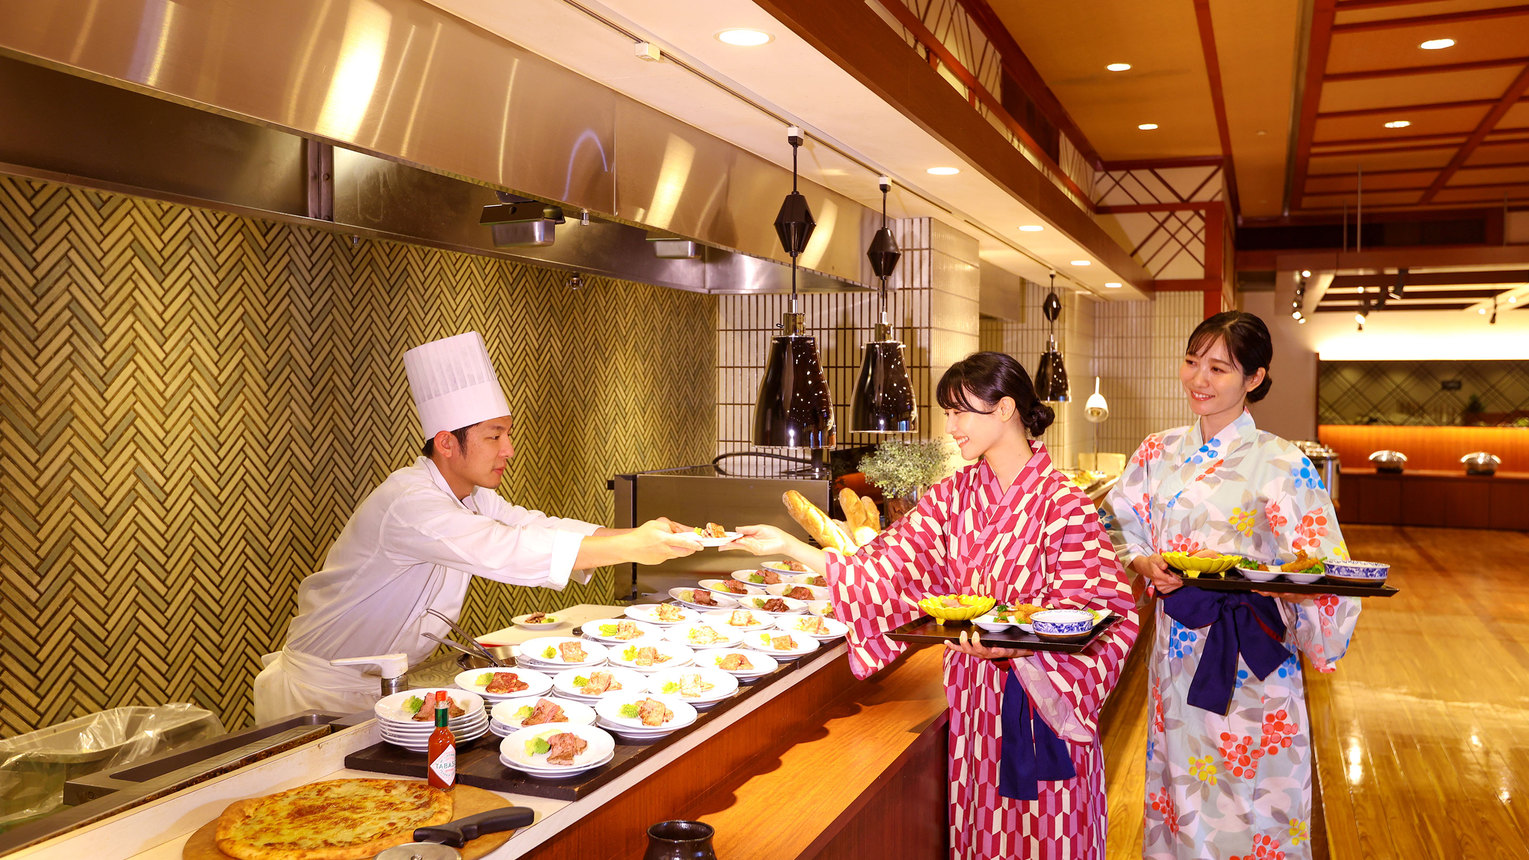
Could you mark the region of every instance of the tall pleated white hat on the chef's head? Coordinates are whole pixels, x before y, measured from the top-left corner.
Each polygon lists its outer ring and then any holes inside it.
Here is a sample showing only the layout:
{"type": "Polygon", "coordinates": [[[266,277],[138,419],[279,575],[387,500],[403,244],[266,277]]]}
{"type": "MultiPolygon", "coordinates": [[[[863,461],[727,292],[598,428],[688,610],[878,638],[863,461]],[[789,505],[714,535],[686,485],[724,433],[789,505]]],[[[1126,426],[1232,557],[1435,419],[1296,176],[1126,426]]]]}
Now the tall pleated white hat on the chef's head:
{"type": "Polygon", "coordinates": [[[509,415],[505,389],[477,332],[416,346],[404,353],[404,372],[425,439],[509,415]]]}

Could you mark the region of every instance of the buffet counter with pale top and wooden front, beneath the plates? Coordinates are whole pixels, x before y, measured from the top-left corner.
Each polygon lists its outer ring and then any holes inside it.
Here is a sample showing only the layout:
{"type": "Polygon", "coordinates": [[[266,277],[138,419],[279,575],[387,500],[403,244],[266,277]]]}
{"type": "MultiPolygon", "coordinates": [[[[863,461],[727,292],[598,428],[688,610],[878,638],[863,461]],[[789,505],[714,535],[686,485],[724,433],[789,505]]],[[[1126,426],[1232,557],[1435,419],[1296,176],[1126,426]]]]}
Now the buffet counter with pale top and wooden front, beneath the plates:
{"type": "MultiPolygon", "coordinates": [[[[575,621],[615,614],[590,604],[560,612],[575,621]]],[[[850,857],[879,831],[891,836],[876,839],[896,843],[887,857],[927,857],[945,839],[943,712],[937,649],[856,682],[841,640],[578,800],[498,793],[537,820],[488,857],[638,857],[647,826],[674,817],[713,823],[723,857],[754,855],[761,845],[789,857],[850,857]],[[885,816],[902,826],[887,828],[885,816]]],[[[365,719],[12,857],[182,860],[193,832],[234,800],[379,776],[346,767],[379,741],[378,722],[365,719]]]]}

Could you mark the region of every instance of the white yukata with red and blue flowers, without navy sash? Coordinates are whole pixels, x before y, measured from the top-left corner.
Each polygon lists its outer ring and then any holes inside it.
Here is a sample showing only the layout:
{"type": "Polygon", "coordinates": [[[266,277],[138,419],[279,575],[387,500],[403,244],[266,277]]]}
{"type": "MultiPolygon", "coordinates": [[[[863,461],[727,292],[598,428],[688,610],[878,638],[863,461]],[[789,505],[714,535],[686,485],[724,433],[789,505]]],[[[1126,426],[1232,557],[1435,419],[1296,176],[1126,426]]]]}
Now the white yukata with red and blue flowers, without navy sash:
{"type": "MultiPolygon", "coordinates": [[[[1289,562],[1349,555],[1315,467],[1252,415],[1203,439],[1200,425],[1148,436],[1110,491],[1115,546],[1125,563],[1171,549],[1289,562]]],[[[1183,586],[1191,588],[1191,586],[1183,586]]],[[[1294,595],[1292,595],[1294,597],[1294,595]]],[[[1297,652],[1320,672],[1349,647],[1353,597],[1278,600],[1290,656],[1261,681],[1237,660],[1225,715],[1188,704],[1206,630],[1156,606],[1148,669],[1148,860],[1312,857],[1312,747],[1297,652]]]]}

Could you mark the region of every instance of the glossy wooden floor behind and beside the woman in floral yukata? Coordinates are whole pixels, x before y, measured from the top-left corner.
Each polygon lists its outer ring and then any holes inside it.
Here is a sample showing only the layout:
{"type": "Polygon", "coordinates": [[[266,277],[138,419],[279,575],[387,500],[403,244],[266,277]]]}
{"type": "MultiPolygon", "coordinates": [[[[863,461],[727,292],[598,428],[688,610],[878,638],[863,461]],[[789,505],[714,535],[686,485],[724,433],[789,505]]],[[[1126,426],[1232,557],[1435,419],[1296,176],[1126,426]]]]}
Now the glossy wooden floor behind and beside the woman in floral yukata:
{"type": "MultiPolygon", "coordinates": [[[[1306,676],[1326,855],[1529,858],[1529,534],[1344,537],[1355,559],[1390,562],[1402,592],[1367,600],[1338,670],[1306,676]]],[[[1122,681],[1141,704],[1105,735],[1112,860],[1141,857],[1144,687],[1145,669],[1122,681]]]]}

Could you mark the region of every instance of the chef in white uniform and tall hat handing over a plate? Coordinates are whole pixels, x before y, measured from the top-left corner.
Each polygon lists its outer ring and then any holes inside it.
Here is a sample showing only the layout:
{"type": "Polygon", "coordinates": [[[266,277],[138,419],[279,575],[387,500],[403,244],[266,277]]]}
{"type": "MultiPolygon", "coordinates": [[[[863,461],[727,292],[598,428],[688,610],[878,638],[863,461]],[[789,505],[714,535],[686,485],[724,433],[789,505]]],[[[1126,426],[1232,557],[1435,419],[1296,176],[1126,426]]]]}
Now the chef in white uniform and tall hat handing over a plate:
{"type": "Polygon", "coordinates": [[[613,529],[505,502],[494,488],[515,453],[512,421],[477,332],[405,352],[404,370],[424,456],[361,502],[323,569],[298,586],[286,644],[261,658],[255,722],[306,709],[370,709],[379,666],[330,661],[388,653],[422,661],[436,647],[424,634],[448,634],[425,609],[459,618],[474,575],[563,589],[570,577],[589,581],[593,568],[656,565],[700,548],[691,529],[665,519],[613,529]]]}

